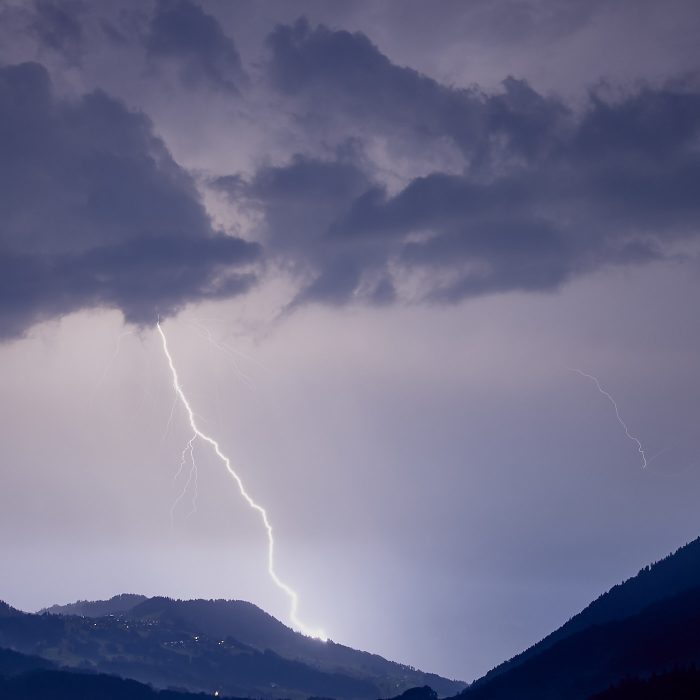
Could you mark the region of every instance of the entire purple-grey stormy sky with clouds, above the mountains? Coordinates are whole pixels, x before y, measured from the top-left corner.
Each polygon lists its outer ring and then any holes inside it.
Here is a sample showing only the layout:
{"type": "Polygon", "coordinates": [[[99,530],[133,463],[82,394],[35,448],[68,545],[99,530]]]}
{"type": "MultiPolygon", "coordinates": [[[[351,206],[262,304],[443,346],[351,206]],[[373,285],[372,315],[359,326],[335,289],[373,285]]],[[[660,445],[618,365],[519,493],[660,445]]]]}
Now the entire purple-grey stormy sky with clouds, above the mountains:
{"type": "Polygon", "coordinates": [[[0,599],[288,622],[201,441],[178,500],[159,315],[336,641],[471,680],[694,539],[699,31],[691,1],[0,0],[0,599]]]}

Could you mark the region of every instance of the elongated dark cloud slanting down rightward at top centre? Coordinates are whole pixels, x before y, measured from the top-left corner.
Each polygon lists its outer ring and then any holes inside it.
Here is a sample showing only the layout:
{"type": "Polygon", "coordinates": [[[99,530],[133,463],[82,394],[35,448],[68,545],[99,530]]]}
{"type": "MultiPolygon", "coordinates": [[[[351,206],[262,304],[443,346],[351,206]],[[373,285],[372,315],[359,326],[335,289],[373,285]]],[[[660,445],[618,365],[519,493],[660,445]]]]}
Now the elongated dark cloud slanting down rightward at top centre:
{"type": "Polygon", "coordinates": [[[508,78],[498,95],[453,89],[393,64],[362,33],[312,29],[301,19],[267,39],[273,86],[308,113],[338,125],[370,127],[391,137],[451,139],[475,165],[503,150],[533,158],[550,144],[567,110],[508,78]]]}

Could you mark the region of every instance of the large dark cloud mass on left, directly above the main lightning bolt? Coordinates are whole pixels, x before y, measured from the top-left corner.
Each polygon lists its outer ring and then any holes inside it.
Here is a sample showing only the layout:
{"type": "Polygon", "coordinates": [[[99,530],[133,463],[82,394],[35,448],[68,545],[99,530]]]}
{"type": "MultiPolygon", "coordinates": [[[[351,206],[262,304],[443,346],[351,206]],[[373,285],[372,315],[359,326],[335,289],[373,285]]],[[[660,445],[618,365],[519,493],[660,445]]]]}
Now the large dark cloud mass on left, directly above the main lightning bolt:
{"type": "Polygon", "coordinates": [[[108,95],[0,68],[0,151],[0,336],[89,307],[152,323],[252,283],[257,246],[212,229],[148,119],[108,95]]]}

